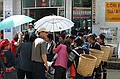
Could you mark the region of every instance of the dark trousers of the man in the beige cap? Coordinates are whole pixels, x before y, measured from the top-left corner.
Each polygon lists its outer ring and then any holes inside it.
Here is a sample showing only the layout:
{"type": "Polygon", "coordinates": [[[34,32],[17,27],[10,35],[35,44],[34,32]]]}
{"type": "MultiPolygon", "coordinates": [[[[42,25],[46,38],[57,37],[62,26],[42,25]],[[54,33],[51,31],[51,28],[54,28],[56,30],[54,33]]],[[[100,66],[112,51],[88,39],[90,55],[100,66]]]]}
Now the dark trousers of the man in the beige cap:
{"type": "Polygon", "coordinates": [[[33,61],[33,79],[45,79],[45,66],[43,63],[33,61]]]}

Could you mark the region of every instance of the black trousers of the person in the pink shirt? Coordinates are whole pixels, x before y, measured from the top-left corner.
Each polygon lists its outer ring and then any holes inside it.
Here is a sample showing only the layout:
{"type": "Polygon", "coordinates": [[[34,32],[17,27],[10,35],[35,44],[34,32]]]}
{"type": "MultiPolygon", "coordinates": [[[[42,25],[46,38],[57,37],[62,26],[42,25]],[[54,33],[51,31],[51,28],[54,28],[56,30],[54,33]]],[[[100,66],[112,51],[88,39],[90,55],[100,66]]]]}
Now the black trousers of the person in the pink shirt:
{"type": "Polygon", "coordinates": [[[66,69],[61,66],[55,66],[54,79],[66,79],[66,69]]]}

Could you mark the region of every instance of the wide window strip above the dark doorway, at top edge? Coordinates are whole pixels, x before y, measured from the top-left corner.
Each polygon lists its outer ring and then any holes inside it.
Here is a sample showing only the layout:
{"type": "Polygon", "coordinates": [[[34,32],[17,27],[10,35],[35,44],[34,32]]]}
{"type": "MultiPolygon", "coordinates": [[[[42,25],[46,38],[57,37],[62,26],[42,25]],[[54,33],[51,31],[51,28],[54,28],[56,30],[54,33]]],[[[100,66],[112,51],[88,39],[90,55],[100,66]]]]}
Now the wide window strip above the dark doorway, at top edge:
{"type": "Polygon", "coordinates": [[[65,0],[23,0],[23,7],[60,7],[65,0]]]}

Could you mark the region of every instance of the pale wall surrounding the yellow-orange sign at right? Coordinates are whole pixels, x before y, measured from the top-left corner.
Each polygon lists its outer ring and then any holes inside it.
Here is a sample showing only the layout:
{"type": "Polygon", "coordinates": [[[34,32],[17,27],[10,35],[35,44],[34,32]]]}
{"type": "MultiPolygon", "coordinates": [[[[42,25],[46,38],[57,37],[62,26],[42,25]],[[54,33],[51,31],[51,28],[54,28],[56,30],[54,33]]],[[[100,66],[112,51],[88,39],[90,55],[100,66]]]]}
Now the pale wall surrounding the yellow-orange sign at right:
{"type": "MultiPolygon", "coordinates": [[[[100,31],[101,27],[117,27],[120,29],[120,22],[105,22],[106,2],[120,2],[120,0],[96,0],[96,25],[93,25],[92,32],[100,31]]],[[[120,30],[119,30],[120,31],[120,30]]],[[[99,34],[99,32],[97,32],[99,34]]],[[[119,32],[120,33],[120,32],[119,32]]],[[[120,42],[120,35],[117,36],[117,41],[120,42]]]]}

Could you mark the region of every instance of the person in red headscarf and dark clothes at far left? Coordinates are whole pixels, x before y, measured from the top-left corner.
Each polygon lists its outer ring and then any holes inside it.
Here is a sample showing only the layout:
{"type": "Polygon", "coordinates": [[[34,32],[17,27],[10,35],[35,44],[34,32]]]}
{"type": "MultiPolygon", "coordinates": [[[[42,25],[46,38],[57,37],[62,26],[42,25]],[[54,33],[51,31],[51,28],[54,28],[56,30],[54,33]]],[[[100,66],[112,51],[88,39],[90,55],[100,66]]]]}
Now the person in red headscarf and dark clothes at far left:
{"type": "Polygon", "coordinates": [[[4,79],[18,79],[16,72],[16,57],[10,51],[10,43],[7,39],[0,42],[0,59],[4,72],[4,79]]]}

